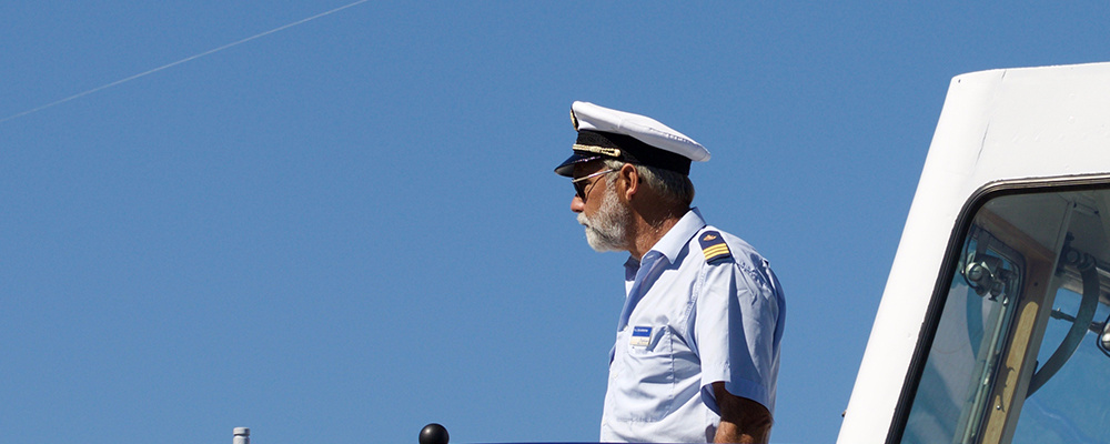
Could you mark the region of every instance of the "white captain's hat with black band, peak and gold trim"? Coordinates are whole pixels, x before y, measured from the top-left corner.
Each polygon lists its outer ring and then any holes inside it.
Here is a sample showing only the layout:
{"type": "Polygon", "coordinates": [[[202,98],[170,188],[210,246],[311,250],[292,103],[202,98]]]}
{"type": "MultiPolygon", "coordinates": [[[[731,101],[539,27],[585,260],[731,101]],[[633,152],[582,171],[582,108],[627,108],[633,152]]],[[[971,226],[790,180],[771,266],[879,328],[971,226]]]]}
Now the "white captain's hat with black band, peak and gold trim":
{"type": "Polygon", "coordinates": [[[617,111],[588,102],[571,104],[571,123],[578,139],[574,154],[555,173],[574,174],[574,165],[597,159],[656,167],[689,174],[690,162],[709,160],[709,151],[685,134],[646,115],[617,111]]]}

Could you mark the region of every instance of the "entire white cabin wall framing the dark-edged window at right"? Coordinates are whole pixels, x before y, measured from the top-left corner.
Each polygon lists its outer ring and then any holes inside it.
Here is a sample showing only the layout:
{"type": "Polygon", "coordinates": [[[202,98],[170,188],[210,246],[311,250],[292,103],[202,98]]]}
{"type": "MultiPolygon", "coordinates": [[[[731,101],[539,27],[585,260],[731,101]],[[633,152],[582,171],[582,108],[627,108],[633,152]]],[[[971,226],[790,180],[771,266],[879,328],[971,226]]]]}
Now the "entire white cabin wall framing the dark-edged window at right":
{"type": "Polygon", "coordinates": [[[1110,172],[1110,63],[952,79],[838,441],[886,440],[965,203],[1005,180],[1110,172]]]}

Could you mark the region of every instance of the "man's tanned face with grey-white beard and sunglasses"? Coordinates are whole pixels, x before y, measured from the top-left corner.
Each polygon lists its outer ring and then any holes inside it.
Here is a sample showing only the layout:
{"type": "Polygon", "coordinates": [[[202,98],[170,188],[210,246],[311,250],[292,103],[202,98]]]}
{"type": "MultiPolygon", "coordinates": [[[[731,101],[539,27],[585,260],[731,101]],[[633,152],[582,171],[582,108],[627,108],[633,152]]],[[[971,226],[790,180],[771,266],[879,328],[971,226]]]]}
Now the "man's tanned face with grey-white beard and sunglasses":
{"type": "MultiPolygon", "coordinates": [[[[602,172],[601,162],[589,162],[581,169],[575,168],[575,179],[602,172]]],[[[615,173],[615,171],[613,172],[615,173]]],[[[571,211],[578,213],[578,223],[586,229],[586,242],[596,251],[627,250],[628,225],[632,222],[632,209],[620,201],[616,192],[616,175],[603,173],[593,179],[584,188],[584,196],[577,195],[571,201],[571,211]]]]}

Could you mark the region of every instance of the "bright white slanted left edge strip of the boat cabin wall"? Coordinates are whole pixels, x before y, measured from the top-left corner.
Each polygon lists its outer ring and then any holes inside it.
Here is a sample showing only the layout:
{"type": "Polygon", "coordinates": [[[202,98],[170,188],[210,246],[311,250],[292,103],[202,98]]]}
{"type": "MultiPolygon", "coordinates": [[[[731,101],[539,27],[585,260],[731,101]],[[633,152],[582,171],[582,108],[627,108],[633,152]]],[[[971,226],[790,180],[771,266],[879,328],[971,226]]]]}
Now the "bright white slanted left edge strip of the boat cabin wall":
{"type": "Polygon", "coordinates": [[[937,270],[975,171],[977,142],[987,127],[982,117],[1001,75],[967,74],[949,85],[845,413],[841,443],[886,440],[937,270]]]}

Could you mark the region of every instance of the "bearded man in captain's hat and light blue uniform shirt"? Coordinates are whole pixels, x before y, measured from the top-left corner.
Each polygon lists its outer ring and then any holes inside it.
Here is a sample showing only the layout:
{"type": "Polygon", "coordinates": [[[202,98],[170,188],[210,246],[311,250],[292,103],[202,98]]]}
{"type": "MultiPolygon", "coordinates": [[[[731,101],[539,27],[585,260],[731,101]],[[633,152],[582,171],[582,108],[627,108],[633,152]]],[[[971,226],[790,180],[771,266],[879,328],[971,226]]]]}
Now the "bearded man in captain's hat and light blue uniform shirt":
{"type": "Polygon", "coordinates": [[[555,169],[597,251],[627,251],[602,441],[761,443],[775,411],[785,300],[768,262],[690,206],[709,152],[650,118],[574,102],[555,169]]]}

